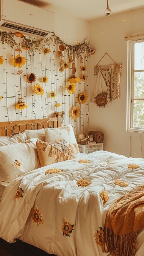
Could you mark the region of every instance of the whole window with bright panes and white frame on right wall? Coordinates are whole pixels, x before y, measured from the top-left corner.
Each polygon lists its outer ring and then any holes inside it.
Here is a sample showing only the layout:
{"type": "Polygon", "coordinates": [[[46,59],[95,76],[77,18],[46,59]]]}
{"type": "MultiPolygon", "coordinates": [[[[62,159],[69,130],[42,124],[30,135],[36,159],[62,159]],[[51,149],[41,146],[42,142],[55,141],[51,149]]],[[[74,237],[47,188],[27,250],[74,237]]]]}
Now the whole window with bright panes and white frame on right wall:
{"type": "Polygon", "coordinates": [[[144,40],[128,43],[127,131],[144,132],[144,40]]]}

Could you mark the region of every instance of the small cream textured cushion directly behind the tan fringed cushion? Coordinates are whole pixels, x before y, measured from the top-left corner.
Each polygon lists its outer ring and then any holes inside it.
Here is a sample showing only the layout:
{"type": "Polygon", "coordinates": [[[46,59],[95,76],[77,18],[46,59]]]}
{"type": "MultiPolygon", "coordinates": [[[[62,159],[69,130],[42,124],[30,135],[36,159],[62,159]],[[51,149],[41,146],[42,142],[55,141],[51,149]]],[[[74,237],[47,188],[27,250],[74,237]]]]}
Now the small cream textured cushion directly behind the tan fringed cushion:
{"type": "Polygon", "coordinates": [[[49,128],[45,131],[45,141],[55,143],[65,140],[69,144],[68,131],[66,129],[49,128]]]}

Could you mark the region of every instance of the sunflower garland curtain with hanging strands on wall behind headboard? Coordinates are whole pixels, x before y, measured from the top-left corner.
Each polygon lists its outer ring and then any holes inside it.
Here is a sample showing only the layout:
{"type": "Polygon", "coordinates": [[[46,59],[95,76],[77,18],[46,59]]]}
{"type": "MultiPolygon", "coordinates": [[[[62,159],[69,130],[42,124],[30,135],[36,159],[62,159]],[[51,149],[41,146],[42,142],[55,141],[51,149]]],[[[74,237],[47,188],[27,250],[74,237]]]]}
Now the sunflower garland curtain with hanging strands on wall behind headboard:
{"type": "Polygon", "coordinates": [[[84,40],[67,45],[48,38],[0,32],[0,121],[50,117],[64,111],[62,125],[75,136],[88,131],[88,58],[96,51],[84,40]]]}

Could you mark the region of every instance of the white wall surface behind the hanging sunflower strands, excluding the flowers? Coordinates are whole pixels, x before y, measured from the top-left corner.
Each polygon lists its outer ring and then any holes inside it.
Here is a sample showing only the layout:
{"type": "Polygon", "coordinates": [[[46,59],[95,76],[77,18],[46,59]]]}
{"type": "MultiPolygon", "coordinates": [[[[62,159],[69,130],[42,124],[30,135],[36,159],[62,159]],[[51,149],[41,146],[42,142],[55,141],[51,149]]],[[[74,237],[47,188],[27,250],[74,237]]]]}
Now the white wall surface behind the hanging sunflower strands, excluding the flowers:
{"type": "MultiPolygon", "coordinates": [[[[22,38],[20,38],[22,39],[22,38]]],[[[15,40],[19,40],[15,37],[15,40]]],[[[18,75],[18,68],[12,66],[12,58],[18,52],[15,51],[17,47],[10,47],[7,43],[0,43],[0,55],[3,56],[4,62],[0,65],[0,96],[7,97],[0,101],[0,121],[14,121],[25,119],[38,119],[50,117],[54,111],[64,111],[63,125],[71,124],[74,128],[76,137],[79,133],[88,131],[88,100],[84,104],[79,104],[78,95],[81,92],[86,92],[88,95],[88,80],[76,83],[76,91],[73,94],[68,93],[66,86],[68,85],[68,78],[72,78],[72,63],[70,68],[63,72],[59,71],[60,59],[58,57],[59,45],[45,45],[44,48],[50,48],[51,52],[46,55],[42,50],[34,52],[34,55],[29,56],[27,50],[22,49],[22,57],[26,58],[26,63],[22,66],[23,73],[18,75]],[[26,75],[35,73],[36,81],[28,83],[26,75]],[[42,83],[40,78],[48,77],[47,83],[42,83]],[[21,83],[20,83],[21,79],[21,83]],[[34,85],[39,83],[45,90],[44,95],[36,95],[34,92],[34,85]],[[28,108],[24,110],[17,110],[15,105],[18,103],[18,97],[21,95],[28,108]],[[56,97],[50,98],[50,91],[55,91],[56,97]],[[8,98],[12,97],[13,98],[8,98]],[[61,106],[56,108],[56,100],[61,103],[61,106]],[[81,116],[77,121],[69,117],[69,110],[71,106],[79,106],[81,116]]],[[[68,62],[68,55],[63,51],[65,63],[68,62]]],[[[86,75],[88,76],[88,58],[82,54],[83,65],[87,67],[86,75]]],[[[75,59],[76,62],[76,77],[81,77],[81,63],[80,58],[75,59]]]]}

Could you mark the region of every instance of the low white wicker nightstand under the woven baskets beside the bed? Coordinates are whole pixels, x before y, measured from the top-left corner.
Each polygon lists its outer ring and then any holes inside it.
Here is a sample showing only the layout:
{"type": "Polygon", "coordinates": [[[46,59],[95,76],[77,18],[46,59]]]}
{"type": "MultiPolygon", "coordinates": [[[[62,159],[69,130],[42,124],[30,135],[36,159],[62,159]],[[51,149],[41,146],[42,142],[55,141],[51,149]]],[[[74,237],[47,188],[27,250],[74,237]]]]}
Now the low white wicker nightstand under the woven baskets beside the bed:
{"type": "Polygon", "coordinates": [[[78,147],[79,147],[80,153],[89,154],[98,150],[103,150],[103,143],[86,144],[86,145],[78,144],[78,147]]]}

